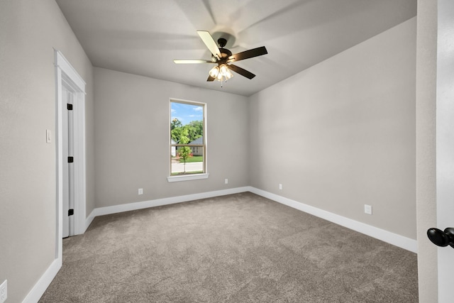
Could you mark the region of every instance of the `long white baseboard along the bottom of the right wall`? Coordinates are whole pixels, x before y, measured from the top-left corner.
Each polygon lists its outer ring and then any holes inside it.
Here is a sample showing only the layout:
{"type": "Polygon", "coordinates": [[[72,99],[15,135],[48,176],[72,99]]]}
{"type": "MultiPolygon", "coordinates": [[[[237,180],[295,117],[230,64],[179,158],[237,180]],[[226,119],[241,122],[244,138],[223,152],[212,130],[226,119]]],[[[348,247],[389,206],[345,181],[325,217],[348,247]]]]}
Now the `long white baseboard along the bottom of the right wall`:
{"type": "Polygon", "coordinates": [[[287,198],[281,197],[277,194],[265,192],[262,189],[250,187],[249,191],[253,192],[254,194],[258,194],[262,197],[265,197],[267,199],[271,199],[275,202],[279,202],[281,204],[293,207],[294,209],[298,209],[298,210],[304,211],[308,214],[318,216],[321,219],[325,219],[327,221],[344,226],[346,228],[353,229],[353,231],[358,231],[359,233],[364,233],[367,236],[371,236],[372,238],[377,238],[378,240],[387,242],[387,243],[397,246],[399,248],[404,248],[413,253],[418,252],[418,242],[414,239],[406,238],[404,236],[398,235],[397,233],[385,231],[384,229],[377,228],[375,226],[370,226],[368,224],[365,224],[365,223],[362,223],[359,221],[355,221],[353,219],[348,219],[348,218],[345,218],[345,216],[339,216],[338,214],[333,214],[329,211],[324,211],[323,209],[318,209],[314,206],[303,204],[301,202],[297,202],[292,199],[287,199],[287,198]]]}

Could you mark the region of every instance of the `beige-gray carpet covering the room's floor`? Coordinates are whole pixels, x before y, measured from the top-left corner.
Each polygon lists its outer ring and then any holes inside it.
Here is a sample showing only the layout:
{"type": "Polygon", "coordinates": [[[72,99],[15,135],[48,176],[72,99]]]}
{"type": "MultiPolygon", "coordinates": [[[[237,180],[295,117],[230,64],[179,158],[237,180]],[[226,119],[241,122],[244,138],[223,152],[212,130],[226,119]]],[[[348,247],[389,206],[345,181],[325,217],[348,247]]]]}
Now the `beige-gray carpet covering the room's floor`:
{"type": "Polygon", "coordinates": [[[40,302],[418,302],[416,254],[245,192],[96,217],[40,302]]]}

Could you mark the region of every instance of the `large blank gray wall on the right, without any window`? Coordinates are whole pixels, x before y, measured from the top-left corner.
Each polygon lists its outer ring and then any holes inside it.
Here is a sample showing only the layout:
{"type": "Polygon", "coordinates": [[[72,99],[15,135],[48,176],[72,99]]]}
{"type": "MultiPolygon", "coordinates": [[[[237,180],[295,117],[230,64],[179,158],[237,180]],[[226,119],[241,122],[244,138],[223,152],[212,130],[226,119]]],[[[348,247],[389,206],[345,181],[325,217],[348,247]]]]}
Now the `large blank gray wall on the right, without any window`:
{"type": "Polygon", "coordinates": [[[412,18],[250,97],[251,185],[416,239],[415,75],[412,18]]]}

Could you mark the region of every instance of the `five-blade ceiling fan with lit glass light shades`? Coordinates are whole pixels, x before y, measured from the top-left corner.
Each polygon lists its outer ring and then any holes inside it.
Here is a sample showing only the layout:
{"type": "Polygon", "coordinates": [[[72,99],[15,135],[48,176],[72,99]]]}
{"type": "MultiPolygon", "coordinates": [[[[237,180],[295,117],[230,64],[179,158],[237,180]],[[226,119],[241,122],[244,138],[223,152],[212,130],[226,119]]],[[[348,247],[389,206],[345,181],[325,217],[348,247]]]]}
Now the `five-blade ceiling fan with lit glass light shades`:
{"type": "Polygon", "coordinates": [[[202,41],[204,41],[206,47],[211,52],[211,60],[173,60],[173,62],[177,64],[196,64],[196,63],[214,63],[217,64],[213,67],[209,72],[209,77],[206,81],[214,81],[215,79],[218,81],[226,81],[233,77],[231,70],[236,72],[248,79],[253,79],[255,75],[248,70],[244,70],[241,67],[231,64],[232,62],[236,62],[239,60],[245,60],[252,57],[258,57],[261,55],[266,55],[267,49],[265,46],[260,48],[253,48],[252,50],[245,50],[244,52],[237,53],[232,55],[232,52],[224,46],[226,46],[227,40],[225,38],[218,39],[218,45],[214,42],[213,37],[208,31],[197,31],[202,41]]]}

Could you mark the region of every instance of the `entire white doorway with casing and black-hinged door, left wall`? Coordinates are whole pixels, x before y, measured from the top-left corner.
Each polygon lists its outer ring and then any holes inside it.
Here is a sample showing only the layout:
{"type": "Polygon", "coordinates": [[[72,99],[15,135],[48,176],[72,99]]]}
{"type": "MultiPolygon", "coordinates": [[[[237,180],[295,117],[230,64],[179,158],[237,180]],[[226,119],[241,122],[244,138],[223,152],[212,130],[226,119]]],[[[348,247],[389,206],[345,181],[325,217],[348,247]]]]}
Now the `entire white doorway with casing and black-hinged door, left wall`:
{"type": "Polygon", "coordinates": [[[58,50],[55,50],[55,74],[57,116],[55,257],[62,260],[62,238],[84,233],[86,230],[85,82],[58,50]]]}

